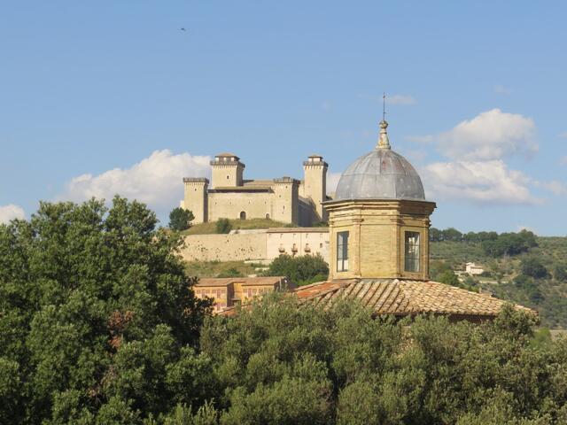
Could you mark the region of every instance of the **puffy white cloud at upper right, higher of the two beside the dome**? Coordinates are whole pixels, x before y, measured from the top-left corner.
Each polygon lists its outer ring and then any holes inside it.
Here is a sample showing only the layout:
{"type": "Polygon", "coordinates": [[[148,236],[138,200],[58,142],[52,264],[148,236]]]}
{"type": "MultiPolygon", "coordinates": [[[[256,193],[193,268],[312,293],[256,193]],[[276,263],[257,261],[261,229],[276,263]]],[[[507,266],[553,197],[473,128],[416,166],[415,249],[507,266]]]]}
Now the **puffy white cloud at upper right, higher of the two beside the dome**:
{"type": "Polygon", "coordinates": [[[489,160],[538,151],[535,123],[500,109],[464,120],[437,137],[439,151],[459,160],[489,160]]]}

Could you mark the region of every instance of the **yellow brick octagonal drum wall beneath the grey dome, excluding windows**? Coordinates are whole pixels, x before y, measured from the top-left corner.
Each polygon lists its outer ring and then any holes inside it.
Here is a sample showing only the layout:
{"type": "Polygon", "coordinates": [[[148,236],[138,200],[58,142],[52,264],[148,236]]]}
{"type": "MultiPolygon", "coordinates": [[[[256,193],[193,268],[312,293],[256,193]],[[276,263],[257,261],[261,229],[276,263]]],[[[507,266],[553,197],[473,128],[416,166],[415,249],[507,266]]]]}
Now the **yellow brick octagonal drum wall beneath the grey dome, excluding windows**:
{"type": "Polygon", "coordinates": [[[330,278],[429,278],[429,216],[425,201],[350,201],[327,205],[330,214],[330,278]],[[337,270],[337,234],[349,232],[348,270],[337,270]],[[420,233],[420,271],[404,270],[404,232],[420,233]]]}

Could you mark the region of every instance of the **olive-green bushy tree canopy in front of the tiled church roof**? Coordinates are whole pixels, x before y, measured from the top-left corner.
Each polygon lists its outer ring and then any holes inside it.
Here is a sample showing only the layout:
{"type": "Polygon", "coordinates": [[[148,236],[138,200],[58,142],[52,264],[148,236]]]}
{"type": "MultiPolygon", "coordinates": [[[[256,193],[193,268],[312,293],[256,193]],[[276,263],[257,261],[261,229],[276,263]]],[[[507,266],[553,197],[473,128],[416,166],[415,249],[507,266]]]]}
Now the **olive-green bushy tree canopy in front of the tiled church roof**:
{"type": "Polygon", "coordinates": [[[396,322],[276,294],[207,321],[201,350],[222,424],[564,423],[567,341],[532,339],[532,324],[511,307],[396,322]]]}

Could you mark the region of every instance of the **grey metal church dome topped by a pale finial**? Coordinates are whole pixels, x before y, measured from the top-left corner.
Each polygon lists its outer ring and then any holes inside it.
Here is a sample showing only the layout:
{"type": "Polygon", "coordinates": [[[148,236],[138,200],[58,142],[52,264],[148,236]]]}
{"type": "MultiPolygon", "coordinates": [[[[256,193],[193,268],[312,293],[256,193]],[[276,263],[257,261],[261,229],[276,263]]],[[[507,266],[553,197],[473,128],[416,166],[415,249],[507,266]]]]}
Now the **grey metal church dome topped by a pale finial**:
{"type": "Polygon", "coordinates": [[[382,120],[380,139],[375,150],[356,159],[341,175],[335,200],[425,200],[419,174],[406,158],[392,151],[387,127],[388,123],[382,120]]]}

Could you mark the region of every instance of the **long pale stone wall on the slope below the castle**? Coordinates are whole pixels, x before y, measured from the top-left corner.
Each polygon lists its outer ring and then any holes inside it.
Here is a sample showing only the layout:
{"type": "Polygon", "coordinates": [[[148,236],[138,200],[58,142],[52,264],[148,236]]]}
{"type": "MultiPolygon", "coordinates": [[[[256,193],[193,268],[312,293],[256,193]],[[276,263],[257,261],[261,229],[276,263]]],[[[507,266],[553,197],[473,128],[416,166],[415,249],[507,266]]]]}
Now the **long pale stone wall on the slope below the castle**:
{"type": "Polygon", "coordinates": [[[321,254],[329,261],[328,228],[237,230],[228,235],[185,236],[186,261],[271,261],[281,254],[321,254]]]}

